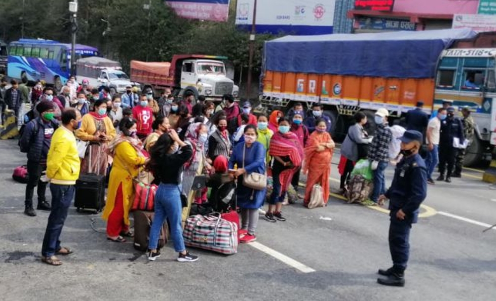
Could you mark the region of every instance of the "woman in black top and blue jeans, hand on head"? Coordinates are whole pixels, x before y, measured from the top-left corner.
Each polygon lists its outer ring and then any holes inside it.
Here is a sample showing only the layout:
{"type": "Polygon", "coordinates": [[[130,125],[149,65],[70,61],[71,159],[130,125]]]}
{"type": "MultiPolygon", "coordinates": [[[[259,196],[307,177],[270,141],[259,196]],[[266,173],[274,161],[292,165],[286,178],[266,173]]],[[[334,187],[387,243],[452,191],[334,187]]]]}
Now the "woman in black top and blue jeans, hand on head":
{"type": "Polygon", "coordinates": [[[183,165],[193,154],[191,146],[179,138],[173,129],[163,134],[151,148],[150,162],[147,169],[151,171],[160,181],[155,194],[155,217],[150,229],[150,240],[148,242],[148,260],[155,260],[160,256],[157,250],[160,229],[166,218],[171,226],[171,238],[174,241],[174,249],[179,252],[179,262],[191,262],[198,257],[186,251],[183,240],[183,226],[181,206],[181,174],[183,165]],[[179,148],[181,150],[178,152],[179,148]]]}

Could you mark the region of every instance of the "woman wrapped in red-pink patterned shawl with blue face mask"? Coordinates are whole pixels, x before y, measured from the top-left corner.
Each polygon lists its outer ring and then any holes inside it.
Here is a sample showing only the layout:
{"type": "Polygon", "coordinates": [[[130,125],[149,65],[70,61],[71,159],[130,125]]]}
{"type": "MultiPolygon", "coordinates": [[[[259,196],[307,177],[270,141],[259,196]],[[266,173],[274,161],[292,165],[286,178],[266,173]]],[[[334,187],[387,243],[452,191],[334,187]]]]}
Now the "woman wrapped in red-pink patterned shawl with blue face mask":
{"type": "Polygon", "coordinates": [[[270,139],[269,154],[274,158],[272,180],[274,189],[269,198],[265,219],[269,222],[285,221],[281,214],[282,203],[293,175],[302,165],[303,147],[298,136],[290,132],[290,121],[279,119],[279,127],[270,139]]]}

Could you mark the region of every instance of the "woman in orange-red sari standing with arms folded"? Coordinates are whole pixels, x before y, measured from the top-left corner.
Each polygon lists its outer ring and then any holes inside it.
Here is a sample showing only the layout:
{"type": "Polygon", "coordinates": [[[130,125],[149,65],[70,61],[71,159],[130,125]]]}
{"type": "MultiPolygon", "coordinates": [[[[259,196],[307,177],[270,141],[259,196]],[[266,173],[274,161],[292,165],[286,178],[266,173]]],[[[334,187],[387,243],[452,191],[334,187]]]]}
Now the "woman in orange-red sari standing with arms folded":
{"type": "Polygon", "coordinates": [[[329,176],[331,173],[331,159],[334,153],[334,141],[327,132],[325,120],[317,120],[315,131],[310,135],[305,147],[305,163],[303,173],[307,176],[307,189],[304,206],[308,207],[313,185],[322,186],[324,202],[329,199],[329,176]]]}

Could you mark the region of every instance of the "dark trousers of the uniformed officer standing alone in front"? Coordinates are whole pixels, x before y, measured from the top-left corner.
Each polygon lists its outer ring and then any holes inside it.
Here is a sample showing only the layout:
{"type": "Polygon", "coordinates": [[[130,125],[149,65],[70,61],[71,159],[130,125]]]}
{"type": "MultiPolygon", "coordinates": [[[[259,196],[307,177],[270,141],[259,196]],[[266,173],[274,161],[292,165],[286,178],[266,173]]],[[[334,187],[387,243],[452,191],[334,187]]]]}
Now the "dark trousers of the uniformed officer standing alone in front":
{"type": "Polygon", "coordinates": [[[398,220],[395,216],[391,217],[389,225],[389,251],[393,266],[396,269],[405,270],[408,257],[410,256],[410,230],[412,224],[403,220],[398,220]]]}

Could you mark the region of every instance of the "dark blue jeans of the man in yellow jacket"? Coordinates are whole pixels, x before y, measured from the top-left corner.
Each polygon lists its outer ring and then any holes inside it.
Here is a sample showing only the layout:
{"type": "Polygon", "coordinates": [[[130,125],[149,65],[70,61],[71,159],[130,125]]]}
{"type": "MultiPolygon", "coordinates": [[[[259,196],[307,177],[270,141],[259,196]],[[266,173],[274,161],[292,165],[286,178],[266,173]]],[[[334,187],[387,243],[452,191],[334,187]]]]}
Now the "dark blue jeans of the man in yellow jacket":
{"type": "Polygon", "coordinates": [[[52,211],[48,217],[47,230],[43,239],[41,254],[53,256],[61,248],[60,236],[67,217],[67,211],[74,198],[74,185],[50,184],[52,192],[52,211]]]}

